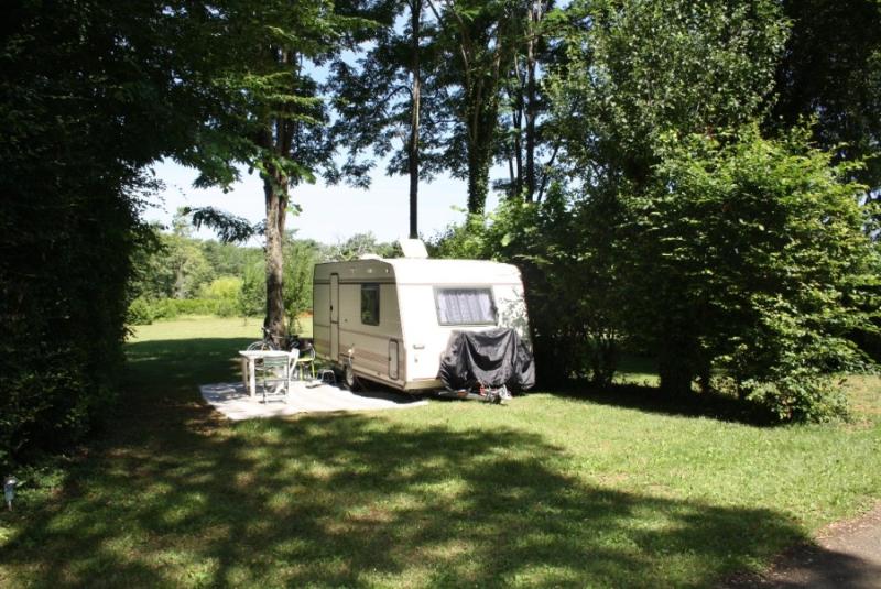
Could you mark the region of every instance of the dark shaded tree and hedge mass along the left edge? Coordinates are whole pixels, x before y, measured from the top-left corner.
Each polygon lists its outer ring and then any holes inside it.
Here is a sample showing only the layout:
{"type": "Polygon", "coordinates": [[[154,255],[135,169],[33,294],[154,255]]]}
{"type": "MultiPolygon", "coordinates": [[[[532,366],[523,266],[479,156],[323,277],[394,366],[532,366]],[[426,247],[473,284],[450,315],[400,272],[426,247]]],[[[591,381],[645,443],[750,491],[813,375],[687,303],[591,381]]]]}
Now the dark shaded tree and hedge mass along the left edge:
{"type": "Polygon", "coordinates": [[[210,159],[227,117],[215,83],[243,66],[215,59],[225,3],[6,7],[0,463],[69,443],[112,396],[139,211],[155,188],[143,168],[210,159]]]}

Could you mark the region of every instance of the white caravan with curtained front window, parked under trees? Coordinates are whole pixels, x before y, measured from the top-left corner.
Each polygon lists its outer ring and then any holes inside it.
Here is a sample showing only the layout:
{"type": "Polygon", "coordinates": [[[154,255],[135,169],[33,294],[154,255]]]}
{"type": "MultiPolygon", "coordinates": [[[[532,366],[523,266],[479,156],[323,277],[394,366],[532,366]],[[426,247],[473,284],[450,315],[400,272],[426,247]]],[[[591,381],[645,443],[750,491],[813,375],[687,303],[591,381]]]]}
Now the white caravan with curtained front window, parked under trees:
{"type": "Polygon", "coordinates": [[[437,371],[455,330],[510,327],[529,341],[515,266],[417,255],[315,266],[315,352],[348,385],[360,378],[401,391],[442,388],[437,371]]]}

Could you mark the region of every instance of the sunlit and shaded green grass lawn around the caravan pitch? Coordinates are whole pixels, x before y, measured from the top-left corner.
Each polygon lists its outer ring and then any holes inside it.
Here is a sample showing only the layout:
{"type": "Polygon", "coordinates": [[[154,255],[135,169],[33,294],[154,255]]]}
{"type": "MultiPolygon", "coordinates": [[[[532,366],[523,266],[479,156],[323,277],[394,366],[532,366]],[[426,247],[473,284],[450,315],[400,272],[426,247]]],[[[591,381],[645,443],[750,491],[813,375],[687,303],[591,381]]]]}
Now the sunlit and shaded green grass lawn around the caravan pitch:
{"type": "Polygon", "coordinates": [[[705,587],[881,498],[878,379],[842,425],[579,391],[229,423],[197,385],[257,335],[138,328],[100,440],[0,516],[0,586],[705,587]]]}

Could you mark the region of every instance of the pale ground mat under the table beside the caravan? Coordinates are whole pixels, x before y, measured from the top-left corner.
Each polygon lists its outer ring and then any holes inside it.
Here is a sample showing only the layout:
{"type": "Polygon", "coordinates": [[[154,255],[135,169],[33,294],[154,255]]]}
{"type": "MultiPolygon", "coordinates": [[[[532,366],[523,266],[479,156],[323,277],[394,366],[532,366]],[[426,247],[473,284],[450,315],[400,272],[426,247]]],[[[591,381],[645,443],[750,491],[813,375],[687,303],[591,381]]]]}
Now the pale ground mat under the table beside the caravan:
{"type": "Polygon", "coordinates": [[[214,408],[233,421],[259,417],[280,417],[297,413],[334,411],[377,411],[402,410],[427,405],[427,401],[390,391],[362,391],[352,393],[339,386],[320,381],[295,381],[291,394],[263,395],[258,385],[257,395],[251,399],[248,389],[240,382],[203,384],[202,396],[214,408]]]}

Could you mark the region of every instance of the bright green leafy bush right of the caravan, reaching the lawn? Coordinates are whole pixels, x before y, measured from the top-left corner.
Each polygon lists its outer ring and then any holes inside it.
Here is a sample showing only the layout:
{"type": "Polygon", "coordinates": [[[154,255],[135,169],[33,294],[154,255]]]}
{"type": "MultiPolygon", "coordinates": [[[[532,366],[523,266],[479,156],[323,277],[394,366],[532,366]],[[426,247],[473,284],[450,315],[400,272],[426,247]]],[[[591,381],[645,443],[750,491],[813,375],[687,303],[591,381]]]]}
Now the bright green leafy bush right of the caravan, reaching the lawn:
{"type": "Polygon", "coordinates": [[[807,138],[670,135],[655,189],[624,197],[631,329],[656,348],[675,334],[684,383],[717,366],[782,421],[840,413],[825,375],[860,366],[847,336],[870,328],[877,283],[862,187],[807,138]]]}

